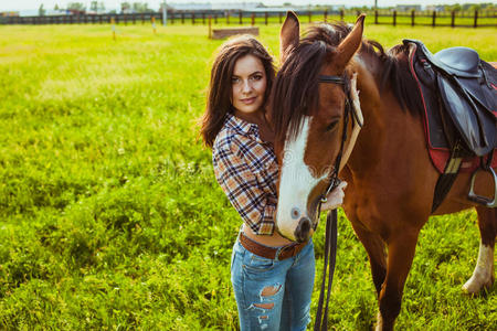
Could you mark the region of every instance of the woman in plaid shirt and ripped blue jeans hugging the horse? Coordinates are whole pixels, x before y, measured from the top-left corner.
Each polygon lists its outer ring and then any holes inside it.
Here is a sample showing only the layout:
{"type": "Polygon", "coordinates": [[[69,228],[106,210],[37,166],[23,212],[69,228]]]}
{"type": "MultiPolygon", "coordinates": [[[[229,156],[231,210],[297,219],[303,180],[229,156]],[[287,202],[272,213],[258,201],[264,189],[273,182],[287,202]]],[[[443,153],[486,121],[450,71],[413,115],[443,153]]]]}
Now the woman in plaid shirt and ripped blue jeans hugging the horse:
{"type": "MultiPolygon", "coordinates": [[[[243,218],[231,280],[242,330],[305,330],[314,286],[313,242],[275,231],[277,163],[265,102],[273,58],[252,36],[225,42],[211,72],[201,134],[212,148],[215,178],[243,218]]],[[[341,204],[345,184],[322,206],[341,204]]]]}

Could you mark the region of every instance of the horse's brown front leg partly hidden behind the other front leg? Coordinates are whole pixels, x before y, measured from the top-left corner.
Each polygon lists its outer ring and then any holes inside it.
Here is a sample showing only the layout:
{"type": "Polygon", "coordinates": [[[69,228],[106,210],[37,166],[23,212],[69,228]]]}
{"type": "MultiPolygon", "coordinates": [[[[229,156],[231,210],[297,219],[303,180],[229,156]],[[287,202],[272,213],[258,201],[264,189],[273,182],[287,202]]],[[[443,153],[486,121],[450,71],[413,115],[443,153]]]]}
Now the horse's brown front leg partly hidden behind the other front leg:
{"type": "Polygon", "coordinates": [[[387,276],[384,242],[378,234],[366,229],[360,223],[352,222],[352,227],[368,253],[374,287],[377,289],[377,295],[380,296],[381,286],[387,276]]]}

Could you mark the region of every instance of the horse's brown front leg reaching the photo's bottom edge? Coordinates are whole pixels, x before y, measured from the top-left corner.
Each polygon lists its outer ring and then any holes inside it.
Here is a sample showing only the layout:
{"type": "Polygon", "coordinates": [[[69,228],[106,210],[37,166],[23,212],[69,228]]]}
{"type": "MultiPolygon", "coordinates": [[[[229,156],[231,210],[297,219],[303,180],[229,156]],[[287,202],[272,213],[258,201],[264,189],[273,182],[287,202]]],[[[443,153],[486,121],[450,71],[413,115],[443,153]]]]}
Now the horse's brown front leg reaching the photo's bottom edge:
{"type": "Polygon", "coordinates": [[[402,303],[405,279],[411,269],[420,228],[402,228],[388,242],[387,277],[380,291],[377,331],[393,330],[402,303]]]}

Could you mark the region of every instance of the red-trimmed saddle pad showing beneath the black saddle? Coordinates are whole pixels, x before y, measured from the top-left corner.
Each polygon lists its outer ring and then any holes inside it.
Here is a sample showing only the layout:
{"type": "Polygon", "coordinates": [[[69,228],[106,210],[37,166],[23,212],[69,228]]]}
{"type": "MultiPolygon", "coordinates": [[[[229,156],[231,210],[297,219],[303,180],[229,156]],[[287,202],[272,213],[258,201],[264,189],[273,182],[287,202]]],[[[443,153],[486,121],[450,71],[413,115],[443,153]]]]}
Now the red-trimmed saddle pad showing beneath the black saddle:
{"type": "MultiPolygon", "coordinates": [[[[410,71],[413,77],[415,78],[419,87],[420,97],[422,98],[423,104],[423,126],[426,138],[426,146],[429,150],[430,158],[432,160],[435,169],[443,173],[447,160],[450,159],[450,142],[447,141],[447,136],[444,134],[444,122],[438,111],[438,99],[440,96],[436,94],[436,86],[434,85],[435,79],[423,79],[423,77],[419,77],[414,70],[414,54],[416,52],[416,45],[411,44],[412,49],[409,55],[409,65],[410,71]]],[[[417,65],[423,65],[417,64],[417,65]]],[[[497,89],[497,86],[491,85],[494,89],[497,89]]],[[[494,109],[493,109],[494,110],[494,109]]],[[[493,111],[495,116],[497,116],[497,109],[493,111]]],[[[447,125],[445,125],[446,129],[447,125]]],[[[451,137],[448,137],[451,138],[451,137]]],[[[495,137],[494,137],[495,139],[495,137]]],[[[497,152],[494,152],[494,158],[491,160],[491,167],[497,167],[497,152]]],[[[486,160],[486,158],[485,158],[486,160]]],[[[468,157],[463,159],[461,164],[461,172],[473,172],[480,164],[480,158],[478,157],[468,157]]]]}

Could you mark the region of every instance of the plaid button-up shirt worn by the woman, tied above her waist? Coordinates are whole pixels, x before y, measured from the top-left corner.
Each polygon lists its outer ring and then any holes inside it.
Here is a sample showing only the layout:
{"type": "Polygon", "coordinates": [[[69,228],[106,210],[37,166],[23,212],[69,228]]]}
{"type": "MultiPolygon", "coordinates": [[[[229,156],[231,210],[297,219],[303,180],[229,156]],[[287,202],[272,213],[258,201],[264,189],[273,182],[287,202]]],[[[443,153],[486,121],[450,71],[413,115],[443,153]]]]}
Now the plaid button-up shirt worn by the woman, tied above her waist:
{"type": "Polygon", "coordinates": [[[226,115],[212,149],[215,178],[231,204],[257,235],[272,235],[278,168],[273,146],[258,127],[226,115]]]}

